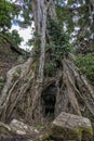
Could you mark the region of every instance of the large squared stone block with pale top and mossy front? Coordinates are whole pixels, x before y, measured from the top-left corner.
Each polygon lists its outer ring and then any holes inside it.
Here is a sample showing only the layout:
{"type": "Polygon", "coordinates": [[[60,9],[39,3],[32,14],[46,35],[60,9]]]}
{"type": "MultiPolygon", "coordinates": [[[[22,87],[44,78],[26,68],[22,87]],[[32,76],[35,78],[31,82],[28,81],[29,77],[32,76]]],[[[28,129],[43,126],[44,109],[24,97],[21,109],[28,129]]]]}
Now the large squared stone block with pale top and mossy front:
{"type": "Polygon", "coordinates": [[[53,121],[51,137],[56,141],[92,141],[93,129],[90,119],[63,112],[53,121]]]}

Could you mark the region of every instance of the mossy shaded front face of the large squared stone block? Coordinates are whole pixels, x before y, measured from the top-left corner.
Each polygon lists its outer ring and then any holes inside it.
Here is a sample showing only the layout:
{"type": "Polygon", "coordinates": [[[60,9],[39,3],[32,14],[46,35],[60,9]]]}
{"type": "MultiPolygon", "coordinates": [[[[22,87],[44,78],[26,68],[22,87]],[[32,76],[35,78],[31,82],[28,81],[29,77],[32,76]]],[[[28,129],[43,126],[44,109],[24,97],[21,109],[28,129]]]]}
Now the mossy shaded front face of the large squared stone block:
{"type": "Polygon", "coordinates": [[[82,138],[92,139],[93,137],[93,130],[88,127],[78,127],[78,128],[65,128],[63,127],[55,127],[52,129],[52,139],[62,139],[62,140],[76,140],[81,141],[82,138]]]}

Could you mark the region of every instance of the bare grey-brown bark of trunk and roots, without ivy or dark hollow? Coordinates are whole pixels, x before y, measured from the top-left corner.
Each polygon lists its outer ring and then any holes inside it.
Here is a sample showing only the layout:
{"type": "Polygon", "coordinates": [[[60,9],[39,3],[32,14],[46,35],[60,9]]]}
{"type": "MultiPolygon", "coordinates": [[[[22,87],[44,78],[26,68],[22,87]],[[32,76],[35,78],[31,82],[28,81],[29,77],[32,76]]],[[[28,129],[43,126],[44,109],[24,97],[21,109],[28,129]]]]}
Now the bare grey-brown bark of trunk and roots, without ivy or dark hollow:
{"type": "MultiPolygon", "coordinates": [[[[54,1],[33,0],[32,10],[36,31],[40,34],[41,51],[39,52],[38,74],[36,74],[37,62],[35,59],[29,59],[25,64],[18,65],[8,73],[6,84],[0,97],[0,119],[9,121],[17,115],[30,121],[31,119],[42,120],[45,118],[44,111],[46,108],[42,94],[46,95],[46,91],[51,92],[49,97],[53,93],[52,97],[54,95],[56,99],[53,106],[54,118],[61,112],[68,112],[80,116],[85,115],[93,119],[93,88],[73,64],[70,55],[63,59],[62,66],[59,70],[56,69],[54,78],[44,76],[45,44],[49,33],[46,30],[48,16],[56,20],[54,1]]],[[[38,37],[36,41],[38,41],[38,37]]]]}

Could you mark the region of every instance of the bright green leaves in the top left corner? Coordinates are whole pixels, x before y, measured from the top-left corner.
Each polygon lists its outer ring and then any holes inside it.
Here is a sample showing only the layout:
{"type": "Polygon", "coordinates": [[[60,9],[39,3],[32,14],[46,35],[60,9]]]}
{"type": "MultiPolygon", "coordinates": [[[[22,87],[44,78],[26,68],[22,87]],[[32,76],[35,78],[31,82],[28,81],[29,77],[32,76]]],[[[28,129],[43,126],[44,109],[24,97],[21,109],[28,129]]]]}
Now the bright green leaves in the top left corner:
{"type": "Polygon", "coordinates": [[[15,14],[15,5],[13,3],[0,0],[0,29],[5,31],[11,28],[11,21],[15,14]]]}

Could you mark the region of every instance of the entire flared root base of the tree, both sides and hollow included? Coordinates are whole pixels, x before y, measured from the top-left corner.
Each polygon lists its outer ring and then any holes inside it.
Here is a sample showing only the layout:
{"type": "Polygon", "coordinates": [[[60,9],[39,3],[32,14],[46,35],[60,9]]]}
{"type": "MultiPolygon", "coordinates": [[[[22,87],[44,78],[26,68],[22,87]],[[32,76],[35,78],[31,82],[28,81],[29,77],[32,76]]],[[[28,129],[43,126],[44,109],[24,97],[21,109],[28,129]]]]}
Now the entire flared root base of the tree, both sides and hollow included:
{"type": "Polygon", "coordinates": [[[70,59],[62,61],[63,67],[55,77],[45,77],[38,82],[36,62],[29,59],[25,64],[8,72],[6,82],[0,98],[0,120],[6,123],[13,117],[25,120],[42,120],[61,112],[94,118],[94,91],[86,78],[70,59]]]}

